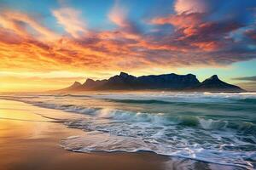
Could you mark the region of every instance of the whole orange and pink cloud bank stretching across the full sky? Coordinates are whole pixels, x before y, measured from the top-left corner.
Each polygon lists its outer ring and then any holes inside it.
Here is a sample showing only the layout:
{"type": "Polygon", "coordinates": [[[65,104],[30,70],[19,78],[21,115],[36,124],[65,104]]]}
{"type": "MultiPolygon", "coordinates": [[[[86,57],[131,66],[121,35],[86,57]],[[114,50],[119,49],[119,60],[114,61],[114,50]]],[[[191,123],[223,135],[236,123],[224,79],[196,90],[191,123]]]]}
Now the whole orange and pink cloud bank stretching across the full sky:
{"type": "Polygon", "coordinates": [[[229,10],[229,14],[221,11],[221,15],[229,15],[227,18],[212,17],[218,16],[220,9],[213,10],[209,6],[213,1],[207,2],[199,5],[202,2],[196,0],[189,3],[192,6],[181,8],[177,6],[186,2],[176,1],[179,5],[173,7],[174,14],[170,11],[150,20],[150,26],[157,28],[154,32],[140,30],[128,11],[117,3],[108,14],[116,27],[104,31],[89,31],[77,9],[53,10],[57,22],[71,36],[50,31],[29,14],[5,10],[0,15],[0,71],[109,73],[223,66],[255,59],[256,50],[248,47],[247,40],[253,38],[253,31],[244,32],[249,24],[229,10]],[[166,25],[167,31],[163,32],[166,25]],[[232,37],[234,31],[241,31],[241,40],[232,37]]]}

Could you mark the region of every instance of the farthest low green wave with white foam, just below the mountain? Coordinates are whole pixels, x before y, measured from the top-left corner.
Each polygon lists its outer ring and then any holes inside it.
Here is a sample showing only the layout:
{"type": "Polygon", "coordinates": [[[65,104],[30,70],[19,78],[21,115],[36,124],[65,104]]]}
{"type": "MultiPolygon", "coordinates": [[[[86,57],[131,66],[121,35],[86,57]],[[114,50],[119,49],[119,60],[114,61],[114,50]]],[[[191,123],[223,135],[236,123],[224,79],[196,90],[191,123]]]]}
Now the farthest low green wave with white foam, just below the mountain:
{"type": "Polygon", "coordinates": [[[232,104],[244,102],[255,104],[255,94],[105,94],[101,96],[90,96],[92,98],[104,99],[113,103],[125,104],[160,104],[160,105],[212,105],[232,104]]]}

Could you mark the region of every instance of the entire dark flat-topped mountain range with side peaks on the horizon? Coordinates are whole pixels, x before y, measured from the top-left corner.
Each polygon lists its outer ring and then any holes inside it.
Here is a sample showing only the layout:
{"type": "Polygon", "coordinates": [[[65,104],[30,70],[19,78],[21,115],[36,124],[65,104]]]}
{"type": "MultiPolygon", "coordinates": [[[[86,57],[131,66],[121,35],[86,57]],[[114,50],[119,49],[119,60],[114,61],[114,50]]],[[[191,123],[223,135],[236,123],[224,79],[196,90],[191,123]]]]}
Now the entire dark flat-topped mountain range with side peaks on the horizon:
{"type": "Polygon", "coordinates": [[[175,90],[175,91],[207,91],[207,92],[244,92],[245,90],[223,82],[217,75],[199,82],[195,75],[177,75],[174,73],[134,77],[125,72],[110,77],[108,80],[92,80],[88,78],[83,84],[74,82],[72,86],[58,91],[89,90],[175,90]]]}

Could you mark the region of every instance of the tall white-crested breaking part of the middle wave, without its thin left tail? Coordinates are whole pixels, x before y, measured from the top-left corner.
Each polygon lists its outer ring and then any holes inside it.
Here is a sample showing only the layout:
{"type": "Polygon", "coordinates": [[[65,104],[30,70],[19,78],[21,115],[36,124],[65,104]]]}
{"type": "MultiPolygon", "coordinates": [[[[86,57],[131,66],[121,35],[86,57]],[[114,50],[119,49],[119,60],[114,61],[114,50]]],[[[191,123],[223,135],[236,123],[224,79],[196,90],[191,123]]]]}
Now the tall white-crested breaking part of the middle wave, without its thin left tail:
{"type": "Polygon", "coordinates": [[[163,113],[152,114],[109,109],[97,110],[94,115],[125,122],[149,122],[160,126],[180,125],[184,127],[199,127],[205,130],[232,128],[240,133],[250,133],[256,136],[256,125],[252,122],[229,122],[200,116],[168,116],[163,113]]]}

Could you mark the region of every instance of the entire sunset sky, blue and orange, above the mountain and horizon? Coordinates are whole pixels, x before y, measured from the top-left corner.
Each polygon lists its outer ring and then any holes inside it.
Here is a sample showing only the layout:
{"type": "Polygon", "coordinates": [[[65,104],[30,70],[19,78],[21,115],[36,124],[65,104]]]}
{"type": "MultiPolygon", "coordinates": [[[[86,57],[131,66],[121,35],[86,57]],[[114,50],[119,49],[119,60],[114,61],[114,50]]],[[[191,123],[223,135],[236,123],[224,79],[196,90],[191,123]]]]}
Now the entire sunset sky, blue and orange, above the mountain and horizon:
{"type": "Polygon", "coordinates": [[[120,71],[256,90],[255,0],[0,0],[0,92],[120,71]]]}

